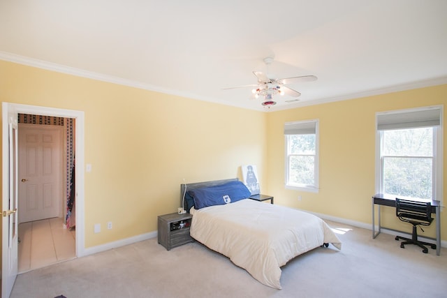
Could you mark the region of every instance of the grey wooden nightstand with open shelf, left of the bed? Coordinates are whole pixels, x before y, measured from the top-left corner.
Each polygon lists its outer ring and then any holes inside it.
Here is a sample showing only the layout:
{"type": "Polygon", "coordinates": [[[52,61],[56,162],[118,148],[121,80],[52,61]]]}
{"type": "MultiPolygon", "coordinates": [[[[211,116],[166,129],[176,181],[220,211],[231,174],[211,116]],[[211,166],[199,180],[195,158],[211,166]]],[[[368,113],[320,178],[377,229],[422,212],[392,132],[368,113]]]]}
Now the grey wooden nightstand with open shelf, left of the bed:
{"type": "Polygon", "coordinates": [[[192,218],[193,216],[189,213],[159,216],[159,244],[170,251],[170,248],[192,242],[193,239],[189,235],[192,218]]]}

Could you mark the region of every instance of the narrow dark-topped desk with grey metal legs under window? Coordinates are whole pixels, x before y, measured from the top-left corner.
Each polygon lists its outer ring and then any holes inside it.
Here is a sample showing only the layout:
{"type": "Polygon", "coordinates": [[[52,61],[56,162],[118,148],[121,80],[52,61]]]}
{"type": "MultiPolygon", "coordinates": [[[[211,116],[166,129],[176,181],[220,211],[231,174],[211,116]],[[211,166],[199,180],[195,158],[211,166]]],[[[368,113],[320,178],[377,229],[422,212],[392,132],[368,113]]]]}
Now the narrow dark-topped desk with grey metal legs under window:
{"type": "MultiPolygon", "coordinates": [[[[426,201],[423,201],[426,202],[426,201]]],[[[378,234],[381,232],[381,225],[380,225],[380,207],[381,206],[388,206],[388,207],[396,207],[396,199],[395,197],[390,197],[383,195],[381,193],[376,194],[372,197],[372,239],[376,238],[378,234]],[[374,205],[379,205],[379,230],[376,233],[375,230],[375,224],[374,224],[374,205]]],[[[439,201],[432,201],[432,213],[436,214],[436,254],[439,255],[441,252],[441,202],[439,201]]]]}

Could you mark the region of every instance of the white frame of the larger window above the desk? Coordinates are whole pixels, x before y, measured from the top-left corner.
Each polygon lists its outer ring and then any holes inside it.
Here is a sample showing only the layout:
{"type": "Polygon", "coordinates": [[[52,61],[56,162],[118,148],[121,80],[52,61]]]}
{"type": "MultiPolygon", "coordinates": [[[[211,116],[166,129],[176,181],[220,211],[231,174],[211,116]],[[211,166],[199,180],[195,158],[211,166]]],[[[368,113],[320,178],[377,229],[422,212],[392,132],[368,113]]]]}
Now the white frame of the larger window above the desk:
{"type": "MultiPolygon", "coordinates": [[[[437,105],[432,107],[420,107],[416,109],[405,109],[405,110],[394,110],[388,112],[377,112],[376,113],[376,173],[375,173],[375,190],[376,193],[384,193],[383,191],[383,162],[384,157],[381,154],[383,151],[383,131],[378,128],[378,118],[386,114],[401,114],[406,112],[422,112],[431,109],[439,110],[439,126],[425,126],[433,128],[433,155],[432,157],[432,200],[439,200],[443,202],[443,172],[444,172],[444,140],[443,140],[443,105],[437,105]]],[[[418,128],[418,126],[402,127],[397,129],[411,129],[418,128]]],[[[389,156],[388,156],[389,157],[389,156]]],[[[403,156],[409,158],[418,158],[418,156],[403,156]]]]}

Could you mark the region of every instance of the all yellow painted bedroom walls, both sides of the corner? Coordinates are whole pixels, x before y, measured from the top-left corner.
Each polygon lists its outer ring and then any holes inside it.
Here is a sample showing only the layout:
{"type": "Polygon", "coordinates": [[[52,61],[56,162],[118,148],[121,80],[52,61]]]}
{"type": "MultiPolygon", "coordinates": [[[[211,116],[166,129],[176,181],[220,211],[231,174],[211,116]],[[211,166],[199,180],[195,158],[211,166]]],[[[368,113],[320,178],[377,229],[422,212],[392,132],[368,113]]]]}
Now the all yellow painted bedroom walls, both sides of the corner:
{"type": "MultiPolygon", "coordinates": [[[[89,248],[155,231],[156,216],[179,207],[183,179],[242,178],[247,163],[258,166],[261,191],[276,204],[369,224],[375,113],[445,104],[447,85],[263,113],[0,61],[0,100],[85,112],[89,248]],[[284,122],[304,119],[320,120],[319,193],[284,188],[284,122]]],[[[384,225],[409,230],[384,211],[384,225]]],[[[445,211],[441,223],[445,240],[445,211]]],[[[434,236],[434,227],[426,231],[434,236]]]]}

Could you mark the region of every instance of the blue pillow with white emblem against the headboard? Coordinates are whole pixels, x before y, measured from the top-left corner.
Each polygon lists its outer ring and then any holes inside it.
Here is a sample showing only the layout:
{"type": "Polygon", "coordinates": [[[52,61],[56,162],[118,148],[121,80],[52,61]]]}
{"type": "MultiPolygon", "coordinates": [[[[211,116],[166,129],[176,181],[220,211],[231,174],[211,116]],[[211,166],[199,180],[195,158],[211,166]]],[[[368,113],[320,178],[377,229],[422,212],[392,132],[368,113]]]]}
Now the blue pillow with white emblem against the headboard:
{"type": "Polygon", "coordinates": [[[249,198],[251,195],[247,186],[241,181],[231,181],[218,186],[191,189],[187,191],[194,200],[194,208],[223,205],[249,198]]]}

